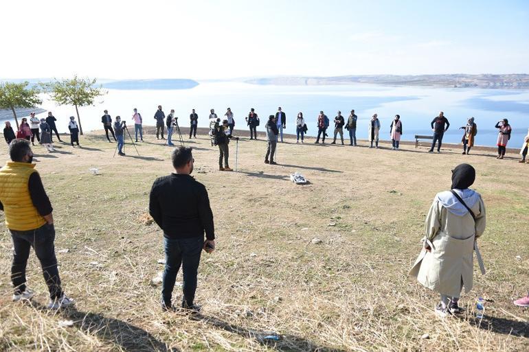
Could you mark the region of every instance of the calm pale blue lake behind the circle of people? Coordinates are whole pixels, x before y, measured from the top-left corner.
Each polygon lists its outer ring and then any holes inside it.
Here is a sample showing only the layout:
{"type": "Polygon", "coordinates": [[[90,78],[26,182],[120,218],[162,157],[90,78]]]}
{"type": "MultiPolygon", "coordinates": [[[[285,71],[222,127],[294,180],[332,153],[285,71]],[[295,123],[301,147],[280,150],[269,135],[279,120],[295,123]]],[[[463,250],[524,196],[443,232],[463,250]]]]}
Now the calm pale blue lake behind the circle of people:
{"type": "MultiPolygon", "coordinates": [[[[81,122],[85,132],[102,129],[101,116],[106,108],[110,115],[121,115],[131,121],[132,109],[137,108],[144,124],[153,125],[153,115],[161,105],[166,114],[171,108],[180,117],[181,126],[188,126],[192,108],[199,114],[199,127],[206,127],[210,108],[221,117],[226,108],[232,108],[236,129],[246,128],[244,117],[250,108],[255,108],[261,118],[258,130],[264,131],[264,121],[275,114],[278,106],[286,113],[286,132],[295,133],[295,117],[302,111],[308,134],[317,133],[316,119],[319,110],[324,110],[331,119],[337,110],[347,117],[351,109],[358,115],[357,137],[368,137],[368,121],[374,113],[379,114],[381,139],[389,139],[390,124],[395,114],[401,115],[403,139],[414,140],[414,134],[431,134],[430,122],[444,111],[450,128],[444,135],[446,142],[461,141],[466,119],[473,116],[477,123],[477,145],[495,145],[499,119],[507,118],[513,127],[509,142],[512,148],[521,146],[529,128],[529,91],[485,90],[485,89],[440,89],[409,86],[260,86],[238,82],[205,82],[193,89],[182,90],[109,90],[102,102],[95,106],[80,108],[81,122]]],[[[67,132],[68,118],[75,115],[70,106],[55,106],[47,99],[43,108],[53,111],[58,119],[59,132],[67,132]]],[[[39,117],[46,114],[40,114],[39,117]]],[[[330,128],[332,133],[333,126],[330,128]]]]}

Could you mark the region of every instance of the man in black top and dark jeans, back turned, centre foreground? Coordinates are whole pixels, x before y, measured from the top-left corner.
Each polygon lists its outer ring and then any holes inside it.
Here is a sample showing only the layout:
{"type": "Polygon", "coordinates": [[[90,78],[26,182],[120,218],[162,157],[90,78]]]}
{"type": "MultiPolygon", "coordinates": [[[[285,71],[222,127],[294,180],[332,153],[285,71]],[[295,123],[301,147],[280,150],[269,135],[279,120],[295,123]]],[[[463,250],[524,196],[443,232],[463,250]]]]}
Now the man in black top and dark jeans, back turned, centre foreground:
{"type": "Polygon", "coordinates": [[[196,275],[202,250],[212,253],[215,249],[213,213],[204,185],[190,176],[194,163],[191,148],[177,147],[172,151],[171,160],[175,172],[155,180],[149,201],[149,213],[164,231],[166,268],[161,307],[172,309],[172,290],[181,266],[181,306],[199,312],[200,307],[194,304],[196,275]]]}

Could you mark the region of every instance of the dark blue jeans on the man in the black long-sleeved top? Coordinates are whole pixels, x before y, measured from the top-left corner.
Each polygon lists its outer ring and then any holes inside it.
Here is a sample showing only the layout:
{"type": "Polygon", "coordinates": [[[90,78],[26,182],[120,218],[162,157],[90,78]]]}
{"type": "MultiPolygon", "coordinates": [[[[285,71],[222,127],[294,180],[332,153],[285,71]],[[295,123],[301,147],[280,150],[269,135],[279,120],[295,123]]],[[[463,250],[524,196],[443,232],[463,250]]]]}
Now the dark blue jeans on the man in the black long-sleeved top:
{"type": "Polygon", "coordinates": [[[161,299],[166,307],[171,307],[172,290],[175,288],[177,274],[183,272],[183,306],[191,306],[196,291],[196,274],[199,270],[200,255],[204,246],[202,236],[190,238],[168,238],[164,236],[166,269],[162,282],[161,299]]]}

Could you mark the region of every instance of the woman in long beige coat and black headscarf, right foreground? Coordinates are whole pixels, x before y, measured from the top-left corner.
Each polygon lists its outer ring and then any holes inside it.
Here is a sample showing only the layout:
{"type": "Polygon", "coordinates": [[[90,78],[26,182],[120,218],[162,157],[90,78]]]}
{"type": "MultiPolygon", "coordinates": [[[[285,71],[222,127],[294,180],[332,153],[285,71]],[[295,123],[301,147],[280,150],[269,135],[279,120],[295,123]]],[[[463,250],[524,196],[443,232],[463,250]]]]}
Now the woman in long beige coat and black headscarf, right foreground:
{"type": "Polygon", "coordinates": [[[441,301],[435,312],[442,317],[462,312],[458,301],[463,288],[465,292],[472,289],[474,250],[484,273],[476,240],[485,230],[486,215],[480,193],[469,189],[474,180],[475,169],[469,164],[452,170],[451,191],[434,198],[426,218],[423,250],[410,271],[425,288],[439,292],[441,301]]]}

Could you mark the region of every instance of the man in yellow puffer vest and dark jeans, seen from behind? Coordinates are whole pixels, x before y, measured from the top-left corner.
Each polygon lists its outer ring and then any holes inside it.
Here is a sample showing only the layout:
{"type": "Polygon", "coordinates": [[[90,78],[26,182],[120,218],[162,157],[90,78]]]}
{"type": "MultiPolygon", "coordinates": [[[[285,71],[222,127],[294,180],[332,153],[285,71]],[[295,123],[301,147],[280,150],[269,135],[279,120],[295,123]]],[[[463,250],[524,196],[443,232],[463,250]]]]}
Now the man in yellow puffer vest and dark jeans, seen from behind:
{"type": "Polygon", "coordinates": [[[41,261],[49,290],[49,309],[74,304],[60,287],[55,257],[55,228],[52,204],[44,190],[41,176],[32,164],[33,152],[25,139],[14,139],[9,145],[12,161],[0,169],[0,210],[13,240],[11,281],[13,301],[30,300],[32,290],[25,286],[25,268],[30,248],[41,261]]]}

